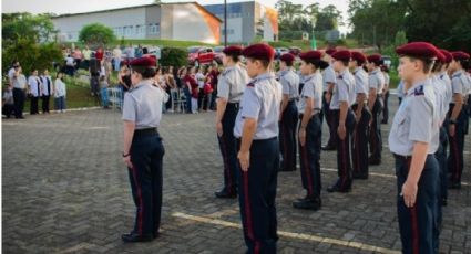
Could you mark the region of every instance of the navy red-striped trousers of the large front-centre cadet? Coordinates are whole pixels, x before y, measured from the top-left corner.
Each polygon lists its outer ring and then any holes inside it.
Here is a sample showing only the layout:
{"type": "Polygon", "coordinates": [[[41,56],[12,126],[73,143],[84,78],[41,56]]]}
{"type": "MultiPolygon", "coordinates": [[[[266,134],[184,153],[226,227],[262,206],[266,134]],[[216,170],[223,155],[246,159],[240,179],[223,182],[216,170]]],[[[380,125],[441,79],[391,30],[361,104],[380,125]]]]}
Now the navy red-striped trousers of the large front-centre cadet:
{"type": "MultiPolygon", "coordinates": [[[[238,142],[239,145],[239,142],[238,142]]],[[[247,253],[276,253],[277,138],[254,140],[247,172],[239,168],[239,207],[247,253]]]]}

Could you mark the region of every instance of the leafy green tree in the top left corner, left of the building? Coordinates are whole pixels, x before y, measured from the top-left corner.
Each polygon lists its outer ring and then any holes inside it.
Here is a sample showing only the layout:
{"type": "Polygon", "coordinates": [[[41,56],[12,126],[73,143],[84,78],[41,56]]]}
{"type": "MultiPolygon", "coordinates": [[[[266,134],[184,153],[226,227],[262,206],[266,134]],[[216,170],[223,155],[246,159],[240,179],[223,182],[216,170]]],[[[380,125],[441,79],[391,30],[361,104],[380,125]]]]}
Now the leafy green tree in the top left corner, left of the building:
{"type": "Polygon", "coordinates": [[[51,13],[33,15],[28,12],[2,14],[3,45],[16,43],[19,39],[34,43],[53,41],[58,31],[51,21],[51,13]]]}

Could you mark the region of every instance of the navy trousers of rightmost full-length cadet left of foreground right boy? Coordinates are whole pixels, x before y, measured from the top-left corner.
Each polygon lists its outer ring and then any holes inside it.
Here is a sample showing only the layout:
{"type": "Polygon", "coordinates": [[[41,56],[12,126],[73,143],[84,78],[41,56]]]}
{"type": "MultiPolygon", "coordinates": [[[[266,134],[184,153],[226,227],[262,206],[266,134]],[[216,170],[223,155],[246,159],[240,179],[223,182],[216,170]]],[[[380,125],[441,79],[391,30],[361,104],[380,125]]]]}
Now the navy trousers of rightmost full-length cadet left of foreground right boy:
{"type": "Polygon", "coordinates": [[[370,145],[370,152],[371,158],[375,160],[381,159],[381,151],[382,151],[382,138],[381,138],[381,123],[379,120],[379,115],[382,112],[382,98],[378,95],[378,98],[375,102],[375,105],[372,107],[371,117],[372,123],[370,127],[370,135],[369,135],[369,145],[370,145]]]}

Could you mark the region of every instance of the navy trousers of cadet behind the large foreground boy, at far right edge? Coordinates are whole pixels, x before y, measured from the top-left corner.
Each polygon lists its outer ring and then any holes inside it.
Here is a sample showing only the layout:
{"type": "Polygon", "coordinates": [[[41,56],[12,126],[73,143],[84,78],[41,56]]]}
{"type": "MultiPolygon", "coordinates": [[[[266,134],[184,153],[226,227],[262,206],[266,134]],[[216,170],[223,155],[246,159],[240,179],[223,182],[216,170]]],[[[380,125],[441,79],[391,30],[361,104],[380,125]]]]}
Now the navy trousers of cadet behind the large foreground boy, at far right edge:
{"type": "MultiPolygon", "coordinates": [[[[449,116],[453,112],[454,104],[450,104],[449,116]]],[[[451,173],[450,181],[452,183],[461,183],[461,174],[463,173],[463,149],[464,149],[464,125],[465,113],[461,109],[458,116],[457,124],[454,125],[454,136],[450,134],[450,155],[448,156],[448,170],[451,173]]]]}

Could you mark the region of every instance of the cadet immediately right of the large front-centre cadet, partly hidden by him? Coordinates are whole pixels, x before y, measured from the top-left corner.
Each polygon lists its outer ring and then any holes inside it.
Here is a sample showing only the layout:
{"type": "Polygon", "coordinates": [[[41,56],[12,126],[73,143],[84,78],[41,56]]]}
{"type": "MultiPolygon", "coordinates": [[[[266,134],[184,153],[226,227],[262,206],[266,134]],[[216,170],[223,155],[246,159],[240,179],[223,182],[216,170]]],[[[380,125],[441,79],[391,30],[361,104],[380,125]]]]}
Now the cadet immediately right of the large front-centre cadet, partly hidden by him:
{"type": "Polygon", "coordinates": [[[295,56],[290,53],[280,56],[279,82],[283,86],[281,113],[279,115],[279,144],[283,155],[280,171],[296,170],[296,127],[298,108],[296,100],[299,92],[299,76],[293,70],[295,56]]]}

